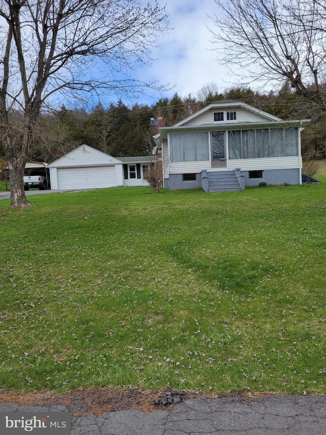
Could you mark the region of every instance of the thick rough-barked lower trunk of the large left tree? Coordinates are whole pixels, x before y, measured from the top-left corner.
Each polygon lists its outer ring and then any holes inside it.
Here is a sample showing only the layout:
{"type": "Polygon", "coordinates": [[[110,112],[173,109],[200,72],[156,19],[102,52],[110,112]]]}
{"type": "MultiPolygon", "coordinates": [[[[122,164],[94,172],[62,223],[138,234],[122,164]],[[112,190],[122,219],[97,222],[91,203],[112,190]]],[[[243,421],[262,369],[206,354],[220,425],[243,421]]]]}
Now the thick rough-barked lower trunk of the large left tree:
{"type": "Polygon", "coordinates": [[[15,151],[15,146],[7,142],[6,157],[9,168],[10,207],[25,208],[30,205],[25,196],[23,181],[26,158],[24,154],[15,151]]]}

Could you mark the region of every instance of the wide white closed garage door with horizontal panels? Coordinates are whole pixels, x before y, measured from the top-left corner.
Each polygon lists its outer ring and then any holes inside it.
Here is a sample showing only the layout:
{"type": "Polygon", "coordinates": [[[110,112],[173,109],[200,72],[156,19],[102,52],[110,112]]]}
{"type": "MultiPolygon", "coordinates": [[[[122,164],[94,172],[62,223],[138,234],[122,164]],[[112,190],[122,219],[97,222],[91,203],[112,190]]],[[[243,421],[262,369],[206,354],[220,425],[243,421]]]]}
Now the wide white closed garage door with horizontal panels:
{"type": "Polygon", "coordinates": [[[59,189],[96,189],[114,186],[117,186],[114,165],[58,168],[59,189]]]}

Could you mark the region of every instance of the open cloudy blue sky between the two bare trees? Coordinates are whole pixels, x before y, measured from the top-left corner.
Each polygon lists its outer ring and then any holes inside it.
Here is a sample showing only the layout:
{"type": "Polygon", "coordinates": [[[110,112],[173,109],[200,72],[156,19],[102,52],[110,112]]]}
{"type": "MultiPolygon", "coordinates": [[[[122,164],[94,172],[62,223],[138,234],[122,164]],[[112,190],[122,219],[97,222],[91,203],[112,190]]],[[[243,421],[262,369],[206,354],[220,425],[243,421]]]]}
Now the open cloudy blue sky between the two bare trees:
{"type": "MultiPolygon", "coordinates": [[[[213,0],[162,0],[166,2],[169,14],[168,34],[156,41],[157,48],[152,53],[156,60],[152,66],[139,66],[134,71],[136,79],[158,80],[161,84],[170,83],[173,89],[162,94],[171,98],[175,92],[185,97],[196,92],[207,83],[217,83],[219,91],[231,86],[236,80],[225,67],[216,62],[216,52],[212,50],[211,35],[206,26],[212,28],[216,4],[213,0]]],[[[155,103],[160,97],[152,92],[153,98],[141,95],[138,103],[155,103]]]]}

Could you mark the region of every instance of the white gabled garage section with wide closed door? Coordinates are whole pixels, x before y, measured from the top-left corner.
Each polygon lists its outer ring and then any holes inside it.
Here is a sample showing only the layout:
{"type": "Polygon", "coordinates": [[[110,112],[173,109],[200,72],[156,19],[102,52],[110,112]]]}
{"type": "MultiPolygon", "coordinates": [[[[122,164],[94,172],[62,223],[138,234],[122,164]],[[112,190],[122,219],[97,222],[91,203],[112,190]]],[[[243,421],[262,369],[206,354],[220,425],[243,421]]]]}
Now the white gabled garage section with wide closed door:
{"type": "Polygon", "coordinates": [[[88,145],[80,145],[48,165],[51,188],[97,189],[123,186],[123,162],[88,145]]]}

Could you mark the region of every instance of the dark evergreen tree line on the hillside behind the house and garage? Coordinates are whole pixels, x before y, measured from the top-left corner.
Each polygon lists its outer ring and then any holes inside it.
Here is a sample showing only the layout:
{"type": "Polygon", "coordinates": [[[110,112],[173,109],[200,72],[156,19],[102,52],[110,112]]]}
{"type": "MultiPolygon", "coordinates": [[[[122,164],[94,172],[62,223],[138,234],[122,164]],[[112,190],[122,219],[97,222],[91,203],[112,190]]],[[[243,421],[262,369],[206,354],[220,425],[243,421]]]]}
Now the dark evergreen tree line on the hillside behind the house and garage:
{"type": "MultiPolygon", "coordinates": [[[[76,146],[85,143],[113,157],[144,156],[150,152],[149,138],[155,134],[150,118],[163,117],[170,126],[219,100],[240,100],[282,119],[312,119],[302,134],[302,154],[325,158],[326,114],[318,105],[297,95],[285,85],[278,92],[263,93],[248,87],[218,92],[216,85],[204,85],[198,96],[181,97],[177,93],[161,98],[151,106],[134,104],[128,108],[121,100],[108,107],[98,104],[91,110],[62,106],[42,114],[28,159],[50,163],[76,146]]],[[[19,118],[19,113],[12,113],[19,118]]],[[[4,151],[0,148],[0,158],[4,151]]]]}

